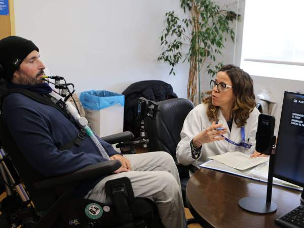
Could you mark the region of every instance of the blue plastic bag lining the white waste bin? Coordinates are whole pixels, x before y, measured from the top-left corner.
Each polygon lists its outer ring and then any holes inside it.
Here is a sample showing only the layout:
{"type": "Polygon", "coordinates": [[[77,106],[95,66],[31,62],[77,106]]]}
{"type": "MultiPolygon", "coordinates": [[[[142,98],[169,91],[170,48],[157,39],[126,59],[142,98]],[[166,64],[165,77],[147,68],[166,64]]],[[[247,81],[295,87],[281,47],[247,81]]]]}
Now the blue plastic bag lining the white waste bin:
{"type": "Polygon", "coordinates": [[[87,109],[100,110],[114,104],[125,105],[125,96],[106,90],[90,90],[80,94],[80,102],[87,109]]]}

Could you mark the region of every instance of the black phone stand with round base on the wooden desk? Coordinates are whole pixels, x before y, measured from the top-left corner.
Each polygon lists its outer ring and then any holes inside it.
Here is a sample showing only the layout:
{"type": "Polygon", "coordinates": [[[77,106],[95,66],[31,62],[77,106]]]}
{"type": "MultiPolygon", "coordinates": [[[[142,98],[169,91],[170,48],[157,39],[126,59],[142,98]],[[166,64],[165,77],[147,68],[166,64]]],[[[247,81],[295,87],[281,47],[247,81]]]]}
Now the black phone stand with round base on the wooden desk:
{"type": "MultiPolygon", "coordinates": [[[[276,136],[272,136],[272,142],[276,141],[276,136]]],[[[268,214],[277,210],[277,205],[271,202],[272,184],[274,173],[274,159],[275,159],[275,144],[270,148],[269,168],[268,168],[268,182],[267,182],[267,197],[245,197],[239,200],[239,206],[246,211],[258,214],[268,214]]]]}

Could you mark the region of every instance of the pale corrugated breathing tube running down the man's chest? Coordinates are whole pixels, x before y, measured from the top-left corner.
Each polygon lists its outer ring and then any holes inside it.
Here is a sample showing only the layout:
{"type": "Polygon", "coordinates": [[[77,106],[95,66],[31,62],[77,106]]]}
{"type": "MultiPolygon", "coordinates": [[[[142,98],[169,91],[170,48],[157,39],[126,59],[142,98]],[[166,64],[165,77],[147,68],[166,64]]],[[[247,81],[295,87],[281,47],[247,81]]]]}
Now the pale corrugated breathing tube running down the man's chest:
{"type": "MultiPolygon", "coordinates": [[[[64,100],[59,94],[55,93],[54,91],[52,91],[50,93],[50,95],[57,100],[60,100],[60,99],[62,101],[64,100]]],[[[75,121],[77,121],[82,126],[82,128],[86,131],[87,135],[90,136],[92,141],[95,143],[95,145],[99,149],[100,154],[102,155],[102,157],[107,159],[107,160],[110,160],[109,156],[107,155],[105,149],[103,148],[103,146],[101,145],[101,143],[97,139],[96,135],[94,134],[92,129],[88,126],[88,120],[85,117],[81,117],[79,115],[77,109],[74,107],[74,105],[72,105],[71,102],[66,101],[65,104],[67,105],[66,110],[68,111],[68,113],[74,118],[75,121]]]]}

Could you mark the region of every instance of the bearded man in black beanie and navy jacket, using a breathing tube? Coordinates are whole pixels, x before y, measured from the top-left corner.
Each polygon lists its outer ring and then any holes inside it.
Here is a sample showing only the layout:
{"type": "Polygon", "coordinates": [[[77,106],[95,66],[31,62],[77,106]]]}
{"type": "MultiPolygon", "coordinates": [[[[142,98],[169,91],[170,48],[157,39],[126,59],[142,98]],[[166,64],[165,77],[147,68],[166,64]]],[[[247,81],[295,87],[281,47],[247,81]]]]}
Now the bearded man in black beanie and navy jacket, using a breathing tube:
{"type": "MultiPolygon", "coordinates": [[[[23,159],[41,178],[53,178],[117,160],[120,168],[82,180],[73,194],[110,205],[113,197],[109,196],[112,192],[106,191],[106,182],[127,177],[135,198],[146,198],[156,204],[165,227],[185,227],[180,181],[172,157],[162,151],[123,156],[96,137],[86,120],[77,111],[74,113],[66,100],[44,81],[45,65],[39,57],[39,49],[22,37],[9,36],[0,41],[0,77],[8,82],[1,116],[8,127],[7,134],[21,151],[16,161],[20,163],[23,159]]],[[[6,152],[10,156],[10,151],[6,152]]],[[[17,171],[22,178],[25,176],[18,168],[17,171]]],[[[28,192],[31,195],[29,189],[28,192]]],[[[88,216],[94,218],[99,208],[88,205],[85,205],[88,216]]],[[[103,210],[105,213],[107,208],[103,210]]],[[[77,222],[71,221],[70,227],[78,227],[77,222]]]]}

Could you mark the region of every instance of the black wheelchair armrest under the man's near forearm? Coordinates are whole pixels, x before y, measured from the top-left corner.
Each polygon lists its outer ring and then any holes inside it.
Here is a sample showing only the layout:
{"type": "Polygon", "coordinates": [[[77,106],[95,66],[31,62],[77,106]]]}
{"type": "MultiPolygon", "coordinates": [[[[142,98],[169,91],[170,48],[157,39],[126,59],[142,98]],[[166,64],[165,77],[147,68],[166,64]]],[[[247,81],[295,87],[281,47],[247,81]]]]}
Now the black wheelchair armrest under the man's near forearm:
{"type": "Polygon", "coordinates": [[[120,167],[121,163],[118,160],[100,162],[62,176],[36,181],[33,185],[39,189],[66,185],[68,183],[100,177],[112,173],[120,167]]]}

